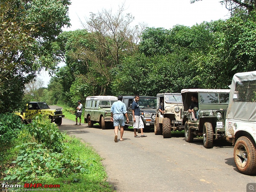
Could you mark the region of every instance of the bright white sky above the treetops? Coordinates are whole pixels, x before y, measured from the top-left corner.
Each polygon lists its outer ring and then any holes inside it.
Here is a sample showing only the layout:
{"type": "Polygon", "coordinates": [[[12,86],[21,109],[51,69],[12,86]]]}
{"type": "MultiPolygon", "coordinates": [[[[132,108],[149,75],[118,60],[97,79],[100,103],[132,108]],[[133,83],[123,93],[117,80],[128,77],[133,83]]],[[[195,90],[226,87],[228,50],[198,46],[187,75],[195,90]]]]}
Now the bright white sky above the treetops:
{"type": "MultiPolygon", "coordinates": [[[[131,25],[138,23],[146,23],[148,27],[162,27],[166,29],[172,28],[176,24],[193,26],[203,21],[211,21],[218,19],[228,19],[229,13],[225,5],[221,5],[220,0],[202,0],[190,4],[190,0],[71,0],[69,6],[69,18],[71,27],[63,28],[65,31],[82,29],[79,18],[85,22],[84,18],[90,17],[90,12],[98,13],[102,9],[110,10],[112,13],[118,11],[118,5],[124,3],[125,13],[131,13],[134,17],[131,25]]],[[[64,66],[65,64],[60,64],[64,66]]],[[[49,77],[47,72],[40,75],[47,87],[49,77]]]]}

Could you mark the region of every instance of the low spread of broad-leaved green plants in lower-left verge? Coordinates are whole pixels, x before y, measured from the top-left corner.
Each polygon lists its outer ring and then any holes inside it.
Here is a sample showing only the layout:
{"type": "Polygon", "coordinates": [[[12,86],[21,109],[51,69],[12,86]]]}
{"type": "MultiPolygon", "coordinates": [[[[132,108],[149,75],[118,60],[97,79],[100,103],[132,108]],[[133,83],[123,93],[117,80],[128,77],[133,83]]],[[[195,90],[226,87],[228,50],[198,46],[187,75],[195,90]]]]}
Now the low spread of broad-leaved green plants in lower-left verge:
{"type": "Polygon", "coordinates": [[[74,158],[68,148],[63,153],[53,152],[37,143],[24,143],[20,146],[19,155],[14,168],[6,170],[4,180],[33,181],[35,179],[51,177],[67,177],[74,173],[89,173],[89,166],[93,166],[94,159],[81,161],[79,156],[74,158]]]}

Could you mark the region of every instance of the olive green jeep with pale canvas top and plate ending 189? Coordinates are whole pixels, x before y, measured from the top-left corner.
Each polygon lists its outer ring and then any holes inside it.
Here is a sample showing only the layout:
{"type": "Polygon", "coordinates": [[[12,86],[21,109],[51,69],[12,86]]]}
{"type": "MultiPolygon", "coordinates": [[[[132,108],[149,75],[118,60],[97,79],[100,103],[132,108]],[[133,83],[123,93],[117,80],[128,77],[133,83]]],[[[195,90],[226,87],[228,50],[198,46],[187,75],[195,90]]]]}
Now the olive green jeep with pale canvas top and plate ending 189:
{"type": "Polygon", "coordinates": [[[185,140],[192,142],[194,137],[203,136],[204,147],[212,148],[213,139],[225,138],[225,116],[228,107],[229,89],[182,89],[182,124],[185,126],[185,140]],[[198,96],[197,116],[188,112],[191,96],[198,96]]]}

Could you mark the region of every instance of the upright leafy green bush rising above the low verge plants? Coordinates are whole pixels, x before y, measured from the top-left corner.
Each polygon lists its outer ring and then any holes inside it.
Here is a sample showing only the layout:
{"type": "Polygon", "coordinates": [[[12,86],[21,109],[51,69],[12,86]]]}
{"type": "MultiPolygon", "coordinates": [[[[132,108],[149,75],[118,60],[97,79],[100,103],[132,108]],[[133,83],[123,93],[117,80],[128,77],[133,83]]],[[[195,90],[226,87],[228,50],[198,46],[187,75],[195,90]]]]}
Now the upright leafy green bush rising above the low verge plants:
{"type": "Polygon", "coordinates": [[[30,135],[38,144],[53,149],[54,152],[63,150],[63,136],[57,124],[51,123],[47,115],[39,115],[28,125],[30,135]]]}

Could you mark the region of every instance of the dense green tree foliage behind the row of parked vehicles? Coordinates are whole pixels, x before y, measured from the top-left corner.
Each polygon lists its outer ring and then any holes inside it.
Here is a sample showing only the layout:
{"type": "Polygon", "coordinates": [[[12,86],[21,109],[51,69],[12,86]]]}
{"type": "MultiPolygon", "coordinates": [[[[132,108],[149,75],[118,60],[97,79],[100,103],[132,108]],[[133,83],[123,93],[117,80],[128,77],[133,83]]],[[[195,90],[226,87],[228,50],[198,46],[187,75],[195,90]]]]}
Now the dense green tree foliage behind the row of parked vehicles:
{"type": "MultiPolygon", "coordinates": [[[[62,51],[68,62],[56,79],[65,90],[63,99],[72,104],[91,95],[155,96],[184,88],[227,89],[235,73],[255,70],[255,23],[254,11],[237,11],[228,20],[192,27],[146,28],[137,51],[126,52],[118,63],[104,69],[107,76],[87,55],[98,46],[92,41],[94,31],[69,31],[60,36],[65,39],[62,51]]],[[[100,57],[115,60],[108,51],[100,57]]]]}

